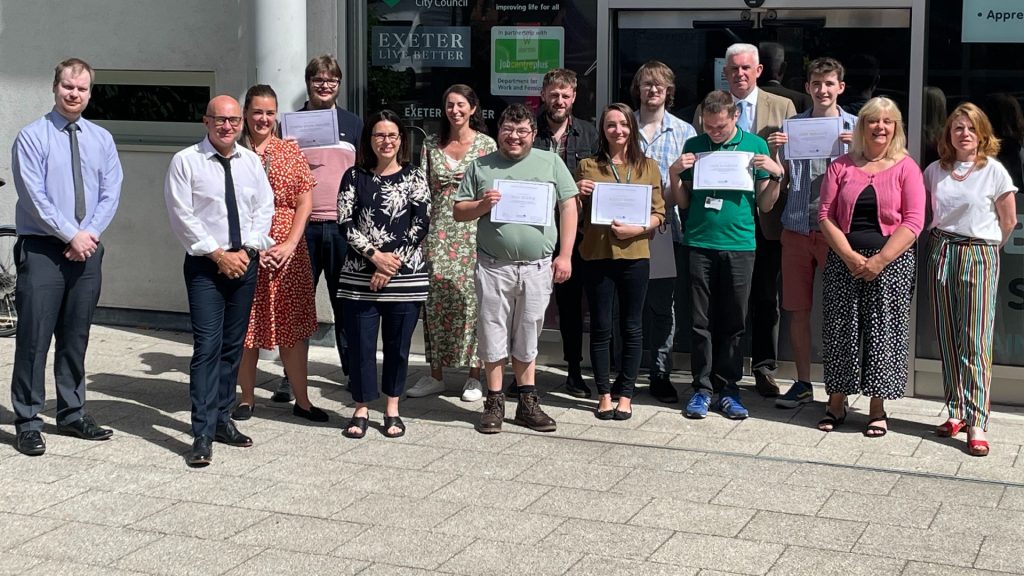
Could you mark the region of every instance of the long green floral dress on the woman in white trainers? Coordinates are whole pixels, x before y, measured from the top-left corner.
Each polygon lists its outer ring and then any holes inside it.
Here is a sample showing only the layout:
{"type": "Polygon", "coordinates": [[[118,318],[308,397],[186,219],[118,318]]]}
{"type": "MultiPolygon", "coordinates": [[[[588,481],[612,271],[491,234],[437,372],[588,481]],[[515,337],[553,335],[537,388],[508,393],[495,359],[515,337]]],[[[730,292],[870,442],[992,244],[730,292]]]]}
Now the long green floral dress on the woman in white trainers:
{"type": "Polygon", "coordinates": [[[476,222],[457,222],[455,195],[469,164],[498,149],[477,132],[462,160],[444,154],[436,137],[424,145],[430,184],[426,257],[433,264],[426,305],[426,357],[430,367],[476,366],[476,222]]]}

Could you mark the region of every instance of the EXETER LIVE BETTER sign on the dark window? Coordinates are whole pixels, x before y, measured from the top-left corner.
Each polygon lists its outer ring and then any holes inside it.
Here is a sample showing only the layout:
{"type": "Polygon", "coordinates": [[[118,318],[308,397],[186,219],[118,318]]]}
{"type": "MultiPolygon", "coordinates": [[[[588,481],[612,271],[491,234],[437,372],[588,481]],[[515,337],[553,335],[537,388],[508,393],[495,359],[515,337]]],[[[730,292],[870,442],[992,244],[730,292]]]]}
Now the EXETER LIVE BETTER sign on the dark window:
{"type": "Polygon", "coordinates": [[[468,26],[375,26],[370,34],[374,66],[470,67],[468,26]]]}

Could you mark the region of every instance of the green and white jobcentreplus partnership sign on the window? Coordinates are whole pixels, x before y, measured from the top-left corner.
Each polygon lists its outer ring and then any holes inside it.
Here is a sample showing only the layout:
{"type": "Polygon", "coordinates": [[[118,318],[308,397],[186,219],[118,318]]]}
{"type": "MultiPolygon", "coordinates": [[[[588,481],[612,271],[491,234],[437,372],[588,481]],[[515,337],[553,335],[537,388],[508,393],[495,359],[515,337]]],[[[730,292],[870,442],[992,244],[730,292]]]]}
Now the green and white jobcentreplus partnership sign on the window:
{"type": "Polygon", "coordinates": [[[490,29],[490,93],[536,96],[544,75],[562,68],[565,30],[560,26],[496,26],[490,29]]]}

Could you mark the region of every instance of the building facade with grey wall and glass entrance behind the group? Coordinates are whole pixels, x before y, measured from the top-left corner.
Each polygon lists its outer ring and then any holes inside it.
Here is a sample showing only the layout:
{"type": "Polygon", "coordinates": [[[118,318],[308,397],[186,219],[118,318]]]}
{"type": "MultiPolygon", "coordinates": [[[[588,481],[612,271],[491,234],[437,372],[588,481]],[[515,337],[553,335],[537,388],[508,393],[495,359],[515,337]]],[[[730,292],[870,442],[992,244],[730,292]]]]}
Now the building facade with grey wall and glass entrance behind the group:
{"type": "MultiPolygon", "coordinates": [[[[1024,45],[1022,10],[1017,0],[8,2],[0,4],[0,147],[9,151],[17,130],[49,110],[54,64],[76,55],[97,69],[87,117],[115,133],[125,169],[121,209],[103,238],[100,305],[108,318],[174,325],[186,304],[180,250],[163,207],[171,155],[201,137],[213,94],[241,96],[250,84],[269,83],[282,110],[301,106],[302,69],[312,55],[338,54],[340,104],[357,114],[390,108],[420,138],[443,121],[441,94],[453,83],[474,87],[494,128],[509,104],[539,106],[547,70],[568,68],[580,77],[575,114],[593,118],[607,102],[632,104],[631,78],[651,58],[675,71],[672,112],[688,120],[702,95],[723,85],[726,46],[774,42],[781,55],[763,63],[763,81],[802,91],[807,61],[839,58],[848,69],[841,105],[879,94],[895,99],[911,154],[925,166],[935,154],[935,124],[957,104],[1024,98],[1016,55],[1024,45]]],[[[10,180],[6,152],[0,176],[10,180]]],[[[6,187],[0,221],[12,221],[13,205],[6,187]]],[[[1018,207],[1024,212],[1020,197],[1018,207]]],[[[1001,255],[993,398],[1024,403],[1024,232],[1001,255]]],[[[935,329],[920,280],[909,390],[940,396],[935,329]]],[[[688,331],[679,332],[677,351],[685,354],[688,331]]],[[[783,360],[785,342],[783,335],[783,360]]]]}

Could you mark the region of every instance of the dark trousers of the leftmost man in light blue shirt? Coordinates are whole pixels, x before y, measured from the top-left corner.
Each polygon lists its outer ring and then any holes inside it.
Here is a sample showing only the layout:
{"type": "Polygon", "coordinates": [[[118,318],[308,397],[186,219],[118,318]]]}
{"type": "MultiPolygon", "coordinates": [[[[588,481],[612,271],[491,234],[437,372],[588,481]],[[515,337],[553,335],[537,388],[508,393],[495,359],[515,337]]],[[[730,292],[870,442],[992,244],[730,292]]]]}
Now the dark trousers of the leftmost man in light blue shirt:
{"type": "Polygon", "coordinates": [[[84,262],[63,255],[65,243],[53,237],[23,236],[14,244],[17,284],[17,335],[10,384],[16,431],[42,430],[39,412],[45,401],[46,355],[50,338],[57,392],[57,424],[82,417],[85,405],[85,349],[92,313],[99,301],[103,246],[84,262]]]}

